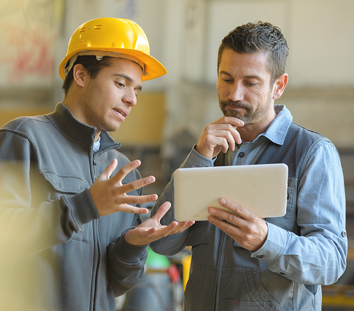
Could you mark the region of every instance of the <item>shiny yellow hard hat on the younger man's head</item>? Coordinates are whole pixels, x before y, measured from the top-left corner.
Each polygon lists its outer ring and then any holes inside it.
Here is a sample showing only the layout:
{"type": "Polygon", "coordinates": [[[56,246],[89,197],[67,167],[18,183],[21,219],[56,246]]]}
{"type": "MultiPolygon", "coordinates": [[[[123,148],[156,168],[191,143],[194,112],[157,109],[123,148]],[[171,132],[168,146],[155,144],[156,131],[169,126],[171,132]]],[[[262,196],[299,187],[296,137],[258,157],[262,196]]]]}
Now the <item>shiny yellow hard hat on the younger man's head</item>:
{"type": "Polygon", "coordinates": [[[143,69],[143,81],[164,75],[163,65],[150,56],[148,38],[135,22],[122,18],[97,18],[83,23],[70,38],[66,55],[59,67],[64,80],[77,56],[95,55],[125,58],[143,69]]]}

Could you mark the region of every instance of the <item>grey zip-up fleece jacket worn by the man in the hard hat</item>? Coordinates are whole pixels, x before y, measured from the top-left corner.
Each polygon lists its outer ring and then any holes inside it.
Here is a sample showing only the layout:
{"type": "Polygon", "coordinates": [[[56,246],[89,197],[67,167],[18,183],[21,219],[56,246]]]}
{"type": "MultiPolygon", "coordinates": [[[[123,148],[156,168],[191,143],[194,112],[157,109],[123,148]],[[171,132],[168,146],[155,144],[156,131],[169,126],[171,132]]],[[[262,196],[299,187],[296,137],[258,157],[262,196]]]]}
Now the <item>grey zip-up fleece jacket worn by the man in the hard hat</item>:
{"type": "MultiPolygon", "coordinates": [[[[10,276],[0,309],[115,310],[114,297],[139,282],[147,247],[123,239],[139,215],[101,217],[89,192],[114,158],[114,173],[129,160],[104,131],[93,154],[95,134],[62,103],[0,129],[0,277],[10,276]]],[[[123,182],[137,179],[134,170],[123,182]]]]}

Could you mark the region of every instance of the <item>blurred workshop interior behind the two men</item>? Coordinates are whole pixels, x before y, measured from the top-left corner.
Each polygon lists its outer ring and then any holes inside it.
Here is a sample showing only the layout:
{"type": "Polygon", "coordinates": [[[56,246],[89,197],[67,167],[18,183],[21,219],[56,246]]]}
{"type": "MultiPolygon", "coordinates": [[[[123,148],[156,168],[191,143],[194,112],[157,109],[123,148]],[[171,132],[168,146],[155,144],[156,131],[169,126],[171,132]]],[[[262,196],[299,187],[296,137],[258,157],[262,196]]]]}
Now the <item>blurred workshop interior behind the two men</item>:
{"type": "Polygon", "coordinates": [[[221,39],[256,20],[281,28],[290,49],[289,83],[276,104],[334,143],[345,176],[348,268],[335,286],[324,288],[324,309],[354,309],[354,1],[2,0],[0,125],[53,111],[63,99],[58,67],[68,40],[79,25],[98,17],[137,22],[151,55],[167,69],[144,82],[137,107],[111,133],[130,160],[142,160],[143,176],[156,176],[145,193],[157,194],[205,125],[222,116],[216,95],[221,39]]]}

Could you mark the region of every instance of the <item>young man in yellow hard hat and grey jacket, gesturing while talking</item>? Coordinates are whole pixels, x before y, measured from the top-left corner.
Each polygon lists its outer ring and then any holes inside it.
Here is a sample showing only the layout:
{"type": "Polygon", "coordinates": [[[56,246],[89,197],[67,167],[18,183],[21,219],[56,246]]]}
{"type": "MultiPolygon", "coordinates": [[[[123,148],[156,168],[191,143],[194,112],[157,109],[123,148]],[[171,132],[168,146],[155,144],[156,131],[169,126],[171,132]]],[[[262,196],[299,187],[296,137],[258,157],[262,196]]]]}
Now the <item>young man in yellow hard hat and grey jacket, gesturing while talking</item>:
{"type": "Polygon", "coordinates": [[[157,199],[142,187],[155,178],[141,179],[140,161],[107,133],[142,81],[166,70],[139,25],[99,18],[73,33],[59,73],[65,97],[54,112],[0,129],[0,309],[115,310],[114,297],[142,277],[147,245],[193,224],[161,226],[168,202],[142,223],[140,204],[157,199]]]}

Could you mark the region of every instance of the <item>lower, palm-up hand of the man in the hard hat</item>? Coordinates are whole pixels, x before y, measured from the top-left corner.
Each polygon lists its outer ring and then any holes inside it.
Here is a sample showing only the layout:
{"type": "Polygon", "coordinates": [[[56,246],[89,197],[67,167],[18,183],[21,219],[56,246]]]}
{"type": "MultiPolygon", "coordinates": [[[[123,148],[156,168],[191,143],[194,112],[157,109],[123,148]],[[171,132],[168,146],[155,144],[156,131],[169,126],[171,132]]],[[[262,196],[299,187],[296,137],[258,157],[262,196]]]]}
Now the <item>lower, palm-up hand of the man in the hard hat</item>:
{"type": "Polygon", "coordinates": [[[131,245],[146,245],[165,236],[181,233],[194,224],[194,221],[172,221],[168,226],[162,226],[160,220],[170,207],[171,203],[163,203],[154,216],[129,230],[124,240],[131,245]]]}

